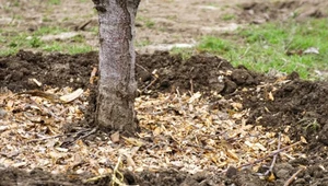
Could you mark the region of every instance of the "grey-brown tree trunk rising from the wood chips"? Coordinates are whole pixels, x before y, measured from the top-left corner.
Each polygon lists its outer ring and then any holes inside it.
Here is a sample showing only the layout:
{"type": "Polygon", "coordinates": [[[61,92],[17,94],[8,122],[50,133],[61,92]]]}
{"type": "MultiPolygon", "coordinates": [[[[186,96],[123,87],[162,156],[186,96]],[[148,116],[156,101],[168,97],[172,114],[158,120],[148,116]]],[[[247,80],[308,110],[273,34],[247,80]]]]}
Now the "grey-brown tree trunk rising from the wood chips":
{"type": "Polygon", "coordinates": [[[133,47],[140,0],[93,0],[99,21],[99,73],[96,123],[105,130],[136,132],[133,47]]]}

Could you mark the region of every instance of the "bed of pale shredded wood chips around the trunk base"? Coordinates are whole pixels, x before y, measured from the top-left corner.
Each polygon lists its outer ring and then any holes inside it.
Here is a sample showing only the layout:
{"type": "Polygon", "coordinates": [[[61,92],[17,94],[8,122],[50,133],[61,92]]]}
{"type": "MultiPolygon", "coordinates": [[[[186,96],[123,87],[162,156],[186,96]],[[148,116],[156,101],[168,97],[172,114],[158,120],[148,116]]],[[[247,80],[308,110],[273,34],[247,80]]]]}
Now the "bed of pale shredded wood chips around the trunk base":
{"type": "MultiPolygon", "coordinates": [[[[82,109],[89,104],[89,90],[72,92],[71,88],[65,88],[25,93],[30,96],[0,94],[7,113],[0,119],[0,164],[4,166],[27,170],[42,166],[51,173],[73,170],[77,174],[102,175],[113,174],[112,168],[120,162],[136,172],[174,166],[196,173],[223,171],[277,150],[277,133],[261,127],[261,118],[257,119],[258,125],[246,125],[249,111],[241,101],[225,100],[214,92],[220,105],[229,107],[212,106],[212,101],[199,92],[137,97],[134,108],[141,131],[136,137],[115,132],[91,139],[79,138],[87,133],[80,132],[81,128],[75,133],[63,131],[67,125],[84,118],[82,109]],[[71,146],[61,146],[65,141],[71,146]],[[120,155],[125,161],[119,161],[120,155]]],[[[294,142],[288,131],[285,128],[286,135],[281,137],[282,147],[294,142]]],[[[306,142],[305,138],[301,140],[306,142]]],[[[282,152],[282,158],[302,156],[297,149],[282,152]]]]}

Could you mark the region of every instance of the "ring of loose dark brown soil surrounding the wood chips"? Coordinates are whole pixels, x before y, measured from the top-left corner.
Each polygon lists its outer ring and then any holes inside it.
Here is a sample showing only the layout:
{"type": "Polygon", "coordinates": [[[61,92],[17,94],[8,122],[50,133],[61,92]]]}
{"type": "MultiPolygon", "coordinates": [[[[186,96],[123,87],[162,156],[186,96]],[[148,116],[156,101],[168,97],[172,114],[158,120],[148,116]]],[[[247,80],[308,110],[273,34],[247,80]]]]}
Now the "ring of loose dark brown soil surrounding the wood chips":
{"type": "MultiPolygon", "coordinates": [[[[44,91],[49,86],[94,89],[95,85],[90,84],[90,78],[96,67],[96,53],[69,56],[20,51],[15,56],[0,57],[1,92],[5,89],[15,93],[25,90],[44,91]],[[43,85],[39,86],[36,82],[42,82],[43,85]]],[[[239,108],[238,104],[231,103],[241,103],[243,109],[249,112],[247,124],[263,126],[268,131],[288,133],[294,141],[305,139],[307,143],[302,143],[301,148],[306,156],[288,162],[278,158],[272,170],[274,182],[260,179],[258,174],[244,167],[242,171],[229,168],[220,174],[204,172],[194,175],[177,168],[167,168],[138,174],[125,172],[124,177],[128,184],[283,185],[303,165],[306,170],[297,174],[298,178],[292,185],[328,185],[327,82],[303,81],[297,73],[268,77],[248,71],[244,67],[234,68],[227,61],[213,56],[194,56],[183,60],[180,56],[171,56],[168,53],[138,55],[136,69],[139,96],[156,98],[162,96],[161,93],[195,95],[200,92],[208,97],[210,109],[227,113],[227,116],[239,108]]],[[[0,120],[5,115],[4,106],[0,105],[0,120]]],[[[169,112],[181,114],[174,109],[169,112]]],[[[8,154],[2,153],[2,156],[8,154]]],[[[92,175],[54,175],[39,168],[24,172],[0,166],[0,185],[108,185],[110,181],[109,177],[102,177],[82,183],[83,178],[92,175]]]]}

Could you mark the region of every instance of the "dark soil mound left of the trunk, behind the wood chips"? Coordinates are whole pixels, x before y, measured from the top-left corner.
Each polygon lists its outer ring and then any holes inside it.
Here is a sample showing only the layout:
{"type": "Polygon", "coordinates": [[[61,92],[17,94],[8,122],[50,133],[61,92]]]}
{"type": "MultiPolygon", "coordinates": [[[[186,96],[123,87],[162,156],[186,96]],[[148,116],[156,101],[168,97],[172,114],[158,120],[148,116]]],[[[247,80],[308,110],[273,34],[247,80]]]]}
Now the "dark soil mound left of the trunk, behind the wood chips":
{"type": "Polygon", "coordinates": [[[20,50],[15,56],[0,57],[1,86],[14,92],[39,89],[31,81],[36,79],[44,86],[86,88],[90,69],[96,63],[96,53],[43,56],[40,53],[20,50]]]}

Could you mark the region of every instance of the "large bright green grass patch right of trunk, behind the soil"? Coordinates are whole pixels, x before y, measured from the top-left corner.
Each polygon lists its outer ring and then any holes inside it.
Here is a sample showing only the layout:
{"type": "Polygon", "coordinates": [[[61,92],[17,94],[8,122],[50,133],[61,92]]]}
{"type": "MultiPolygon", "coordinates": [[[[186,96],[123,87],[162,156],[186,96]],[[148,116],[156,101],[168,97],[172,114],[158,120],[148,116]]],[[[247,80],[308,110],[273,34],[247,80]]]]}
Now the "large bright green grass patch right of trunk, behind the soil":
{"type": "Polygon", "coordinates": [[[303,79],[313,79],[314,70],[328,69],[328,21],[309,20],[306,23],[268,23],[238,30],[229,37],[204,36],[196,49],[222,56],[233,65],[268,72],[296,71],[303,79]],[[319,55],[297,55],[309,47],[319,48],[319,55]],[[286,53],[294,55],[286,55],[286,53]]]}

